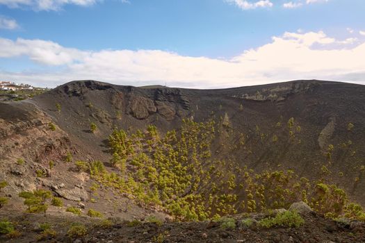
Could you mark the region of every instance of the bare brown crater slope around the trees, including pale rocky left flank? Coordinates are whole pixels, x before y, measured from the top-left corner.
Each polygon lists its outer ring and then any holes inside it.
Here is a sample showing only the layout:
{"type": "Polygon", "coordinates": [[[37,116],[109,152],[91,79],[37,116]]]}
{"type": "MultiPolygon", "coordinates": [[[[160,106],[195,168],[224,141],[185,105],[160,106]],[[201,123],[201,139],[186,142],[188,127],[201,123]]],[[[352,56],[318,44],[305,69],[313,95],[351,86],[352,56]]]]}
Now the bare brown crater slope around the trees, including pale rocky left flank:
{"type": "MultiPolygon", "coordinates": [[[[364,86],[324,81],[225,90],[74,81],[31,101],[1,103],[2,176],[11,182],[9,192],[43,186],[71,201],[88,201],[92,180],[72,171],[67,157],[72,162],[101,160],[119,174],[111,167],[108,144],[115,128],[145,133],[152,124],[162,140],[168,131],[184,126],[183,120],[214,121],[210,158],[222,171],[230,165],[252,169],[252,174],[294,169],[311,180],[331,180],[364,205],[364,101],[364,86]],[[56,176],[37,177],[39,170],[51,173],[50,160],[56,162],[56,176]],[[18,183],[19,178],[24,182],[18,183]],[[63,181],[66,185],[60,186],[63,181]]],[[[235,173],[238,180],[241,172],[235,173]]]]}

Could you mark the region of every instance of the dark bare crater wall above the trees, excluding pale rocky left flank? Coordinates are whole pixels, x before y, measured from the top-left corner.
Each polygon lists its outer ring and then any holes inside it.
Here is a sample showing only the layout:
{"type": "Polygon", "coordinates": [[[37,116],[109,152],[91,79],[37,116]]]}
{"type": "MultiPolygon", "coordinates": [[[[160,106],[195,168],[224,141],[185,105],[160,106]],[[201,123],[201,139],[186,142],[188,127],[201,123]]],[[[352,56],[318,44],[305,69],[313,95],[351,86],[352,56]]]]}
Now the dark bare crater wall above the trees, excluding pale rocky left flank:
{"type": "Polygon", "coordinates": [[[325,165],[336,182],[362,200],[365,156],[365,87],[325,81],[293,81],[225,90],[138,88],[97,81],[62,85],[33,100],[88,158],[108,161],[106,140],[113,128],[142,131],[154,124],[165,133],[182,119],[224,121],[213,156],[261,171],[277,166],[318,178],[325,165]],[[59,103],[60,112],[56,110],[59,103]],[[293,117],[295,142],[288,121],[293,117]],[[90,123],[97,133],[90,133],[90,123]],[[348,124],[354,127],[348,129],[348,124]],[[239,141],[245,140],[242,146],[239,141]],[[350,144],[349,144],[350,143],[350,144]],[[331,159],[328,157],[329,146],[331,159]],[[338,173],[344,174],[339,178],[338,173]]]}

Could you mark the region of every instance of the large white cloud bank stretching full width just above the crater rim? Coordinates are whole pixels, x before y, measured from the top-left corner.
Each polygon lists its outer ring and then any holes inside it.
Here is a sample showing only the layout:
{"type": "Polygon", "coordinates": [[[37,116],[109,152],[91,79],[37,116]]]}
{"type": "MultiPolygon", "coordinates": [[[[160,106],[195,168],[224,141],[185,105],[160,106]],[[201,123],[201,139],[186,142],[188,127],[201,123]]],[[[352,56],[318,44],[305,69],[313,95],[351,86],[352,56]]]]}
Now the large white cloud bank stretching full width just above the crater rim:
{"type": "Polygon", "coordinates": [[[200,88],[311,78],[365,84],[365,78],[361,79],[365,77],[365,42],[336,40],[322,31],[287,32],[229,59],[181,56],[161,50],[82,51],[44,40],[0,38],[0,57],[17,56],[28,56],[43,65],[24,72],[3,69],[1,78],[48,87],[76,79],[122,85],[166,81],[170,86],[200,88]],[[57,71],[47,69],[47,65],[56,65],[57,71]]]}

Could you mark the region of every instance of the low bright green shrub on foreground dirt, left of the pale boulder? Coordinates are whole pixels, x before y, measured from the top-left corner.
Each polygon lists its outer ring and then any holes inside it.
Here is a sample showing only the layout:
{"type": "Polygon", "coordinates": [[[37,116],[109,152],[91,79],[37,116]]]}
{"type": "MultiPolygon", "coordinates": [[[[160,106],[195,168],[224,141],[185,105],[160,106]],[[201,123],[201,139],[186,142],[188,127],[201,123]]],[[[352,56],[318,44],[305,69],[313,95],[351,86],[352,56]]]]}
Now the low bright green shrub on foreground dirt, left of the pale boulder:
{"type": "Polygon", "coordinates": [[[275,217],[261,219],[259,226],[263,228],[271,228],[273,226],[299,228],[304,222],[304,219],[300,217],[298,212],[285,211],[277,213],[275,217]]]}

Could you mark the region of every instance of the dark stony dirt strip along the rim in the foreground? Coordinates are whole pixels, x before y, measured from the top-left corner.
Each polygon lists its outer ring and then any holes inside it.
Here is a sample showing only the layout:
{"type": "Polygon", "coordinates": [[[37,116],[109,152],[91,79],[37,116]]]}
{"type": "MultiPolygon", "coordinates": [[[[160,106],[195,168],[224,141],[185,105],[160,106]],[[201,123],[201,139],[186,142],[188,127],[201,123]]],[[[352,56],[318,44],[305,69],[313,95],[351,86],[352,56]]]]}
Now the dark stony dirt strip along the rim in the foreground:
{"type": "Polygon", "coordinates": [[[44,217],[24,213],[8,217],[10,221],[17,222],[16,228],[21,235],[13,239],[2,236],[0,242],[365,242],[364,223],[352,221],[347,225],[339,224],[314,212],[302,217],[305,224],[300,228],[248,228],[237,220],[234,230],[225,230],[219,223],[211,221],[165,222],[162,225],[142,221],[131,226],[130,222],[117,218],[111,219],[113,223],[108,228],[103,228],[102,219],[44,217]],[[86,225],[86,235],[67,236],[68,229],[76,221],[86,225]],[[37,240],[42,222],[51,223],[57,235],[37,240]]]}

